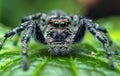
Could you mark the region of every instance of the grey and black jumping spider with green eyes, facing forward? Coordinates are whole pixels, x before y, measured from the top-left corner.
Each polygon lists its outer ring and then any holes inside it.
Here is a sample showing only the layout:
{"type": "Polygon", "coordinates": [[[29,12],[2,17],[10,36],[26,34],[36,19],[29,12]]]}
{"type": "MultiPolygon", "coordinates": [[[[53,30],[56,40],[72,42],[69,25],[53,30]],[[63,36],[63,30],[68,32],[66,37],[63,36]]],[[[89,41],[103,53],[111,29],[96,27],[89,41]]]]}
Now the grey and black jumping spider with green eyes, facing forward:
{"type": "MultiPolygon", "coordinates": [[[[51,55],[60,54],[64,56],[70,52],[69,45],[82,41],[86,29],[103,44],[109,66],[114,70],[110,47],[112,47],[116,55],[118,55],[118,51],[112,43],[107,30],[103,26],[94,23],[91,19],[77,14],[69,16],[58,10],[53,10],[49,14],[36,13],[24,17],[20,26],[5,33],[0,44],[0,50],[9,37],[15,34],[20,35],[25,30],[22,39],[22,56],[23,69],[26,70],[28,69],[28,42],[31,37],[39,43],[49,45],[48,51],[51,55]]],[[[18,39],[15,40],[15,44],[17,44],[17,41],[18,39]]]]}

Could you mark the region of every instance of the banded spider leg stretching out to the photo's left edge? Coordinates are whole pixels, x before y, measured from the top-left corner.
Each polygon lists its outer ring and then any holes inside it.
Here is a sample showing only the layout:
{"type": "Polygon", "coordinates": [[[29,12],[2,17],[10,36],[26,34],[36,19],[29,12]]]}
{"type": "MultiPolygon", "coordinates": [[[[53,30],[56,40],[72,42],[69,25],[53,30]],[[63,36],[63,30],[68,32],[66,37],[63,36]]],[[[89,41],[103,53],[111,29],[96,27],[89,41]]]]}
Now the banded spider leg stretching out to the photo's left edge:
{"type": "Polygon", "coordinates": [[[2,49],[5,41],[11,37],[11,36],[14,36],[16,33],[20,33],[22,32],[26,26],[28,25],[29,22],[25,22],[25,23],[22,23],[19,27],[16,27],[14,28],[13,30],[10,30],[9,32],[7,32],[5,35],[4,35],[4,38],[2,40],[2,42],[0,43],[0,50],[2,49]]]}

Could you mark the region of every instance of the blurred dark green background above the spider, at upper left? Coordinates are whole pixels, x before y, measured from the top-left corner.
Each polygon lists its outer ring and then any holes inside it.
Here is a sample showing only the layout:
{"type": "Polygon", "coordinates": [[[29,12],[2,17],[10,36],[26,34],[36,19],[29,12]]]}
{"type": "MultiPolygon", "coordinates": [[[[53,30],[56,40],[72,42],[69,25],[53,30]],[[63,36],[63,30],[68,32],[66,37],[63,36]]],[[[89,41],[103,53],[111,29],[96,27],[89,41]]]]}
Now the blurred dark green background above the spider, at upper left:
{"type": "Polygon", "coordinates": [[[60,9],[68,14],[78,13],[75,0],[0,0],[1,22],[7,26],[17,26],[21,18],[37,12],[48,13],[60,9]]]}

